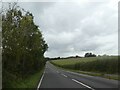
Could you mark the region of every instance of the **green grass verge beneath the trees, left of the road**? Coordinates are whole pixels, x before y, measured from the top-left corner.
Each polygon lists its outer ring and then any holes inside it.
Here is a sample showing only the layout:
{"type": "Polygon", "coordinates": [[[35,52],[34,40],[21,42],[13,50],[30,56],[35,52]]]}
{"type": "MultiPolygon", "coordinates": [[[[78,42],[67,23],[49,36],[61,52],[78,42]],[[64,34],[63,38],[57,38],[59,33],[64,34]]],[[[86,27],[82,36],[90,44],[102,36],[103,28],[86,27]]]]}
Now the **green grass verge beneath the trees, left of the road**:
{"type": "MultiPolygon", "coordinates": [[[[18,88],[18,89],[30,89],[30,90],[36,90],[39,80],[43,74],[44,68],[37,73],[28,76],[25,79],[18,78],[8,72],[6,72],[7,76],[4,78],[4,80],[7,82],[6,86],[7,88],[18,88]]],[[[3,80],[3,81],[4,81],[3,80]]],[[[6,87],[5,87],[6,88],[6,87]]]]}

